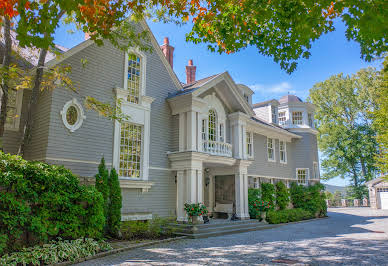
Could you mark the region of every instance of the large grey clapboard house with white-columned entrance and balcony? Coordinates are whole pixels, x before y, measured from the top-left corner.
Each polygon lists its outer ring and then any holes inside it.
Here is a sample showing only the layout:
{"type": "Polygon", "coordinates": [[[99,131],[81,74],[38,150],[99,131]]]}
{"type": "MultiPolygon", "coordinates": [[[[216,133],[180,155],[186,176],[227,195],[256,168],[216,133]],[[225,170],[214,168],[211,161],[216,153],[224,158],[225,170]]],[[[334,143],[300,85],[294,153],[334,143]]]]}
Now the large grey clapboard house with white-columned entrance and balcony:
{"type": "MultiPolygon", "coordinates": [[[[249,219],[249,187],[319,182],[312,104],[294,95],[253,104],[253,91],[228,72],[196,80],[192,60],[181,83],[172,67],[174,48],[167,38],[159,46],[150,35],[152,53],[124,53],[87,39],[58,48],[62,56],[47,65],[71,65],[78,91],[41,93],[26,159],[64,165],[91,179],[104,156],[120,175],[124,220],[186,220],[186,202],[203,202],[212,213],[233,206],[237,217],[249,219]],[[131,119],[119,123],[86,110],[86,95],[123,99],[131,119]]],[[[5,152],[17,152],[30,93],[11,95],[5,152]]]]}

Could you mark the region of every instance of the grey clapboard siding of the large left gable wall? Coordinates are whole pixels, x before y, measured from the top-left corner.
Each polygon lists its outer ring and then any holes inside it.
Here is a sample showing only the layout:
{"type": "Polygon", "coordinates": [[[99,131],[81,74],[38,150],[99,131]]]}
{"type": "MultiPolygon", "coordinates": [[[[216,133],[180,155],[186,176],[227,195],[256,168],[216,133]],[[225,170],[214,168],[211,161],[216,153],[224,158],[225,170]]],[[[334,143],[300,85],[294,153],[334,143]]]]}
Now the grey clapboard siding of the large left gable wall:
{"type": "MultiPolygon", "coordinates": [[[[168,169],[170,166],[167,152],[176,146],[178,125],[176,118],[171,115],[166,98],[169,92],[175,92],[177,88],[156,51],[146,53],[146,57],[146,95],[155,99],[151,105],[150,167],[168,169]]],[[[73,98],[82,105],[85,96],[112,102],[113,88],[123,87],[124,62],[124,52],[109,43],[102,47],[90,45],[65,60],[65,64],[72,66],[71,79],[77,86],[77,92],[56,89],[53,93],[47,149],[50,163],[64,165],[75,174],[85,177],[97,173],[97,163],[102,156],[105,157],[108,168],[111,167],[113,122],[94,111],[85,110],[86,119],[82,126],[71,133],[63,125],[60,111],[64,104],[73,98]],[[87,60],[85,67],[82,67],[81,59],[87,60]]],[[[142,193],[140,189],[122,190],[122,213],[151,212],[162,216],[174,215],[174,177],[171,171],[150,169],[149,181],[154,182],[154,185],[148,192],[142,193]]]]}

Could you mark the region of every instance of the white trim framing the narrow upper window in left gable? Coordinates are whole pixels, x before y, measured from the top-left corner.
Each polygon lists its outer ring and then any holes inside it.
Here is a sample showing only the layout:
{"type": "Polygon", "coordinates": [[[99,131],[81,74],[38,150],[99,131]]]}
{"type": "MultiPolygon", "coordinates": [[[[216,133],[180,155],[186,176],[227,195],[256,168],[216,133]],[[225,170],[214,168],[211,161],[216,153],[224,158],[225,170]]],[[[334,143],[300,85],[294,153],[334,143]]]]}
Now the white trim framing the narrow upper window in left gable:
{"type": "MultiPolygon", "coordinates": [[[[124,60],[124,90],[128,91],[128,55],[134,53],[140,57],[140,69],[141,69],[141,80],[140,80],[140,91],[139,91],[139,104],[141,104],[142,96],[146,95],[146,73],[147,73],[147,57],[138,48],[130,47],[125,52],[124,60]]],[[[125,99],[127,101],[127,99],[125,99]]],[[[136,105],[135,103],[133,103],[136,105]]]]}

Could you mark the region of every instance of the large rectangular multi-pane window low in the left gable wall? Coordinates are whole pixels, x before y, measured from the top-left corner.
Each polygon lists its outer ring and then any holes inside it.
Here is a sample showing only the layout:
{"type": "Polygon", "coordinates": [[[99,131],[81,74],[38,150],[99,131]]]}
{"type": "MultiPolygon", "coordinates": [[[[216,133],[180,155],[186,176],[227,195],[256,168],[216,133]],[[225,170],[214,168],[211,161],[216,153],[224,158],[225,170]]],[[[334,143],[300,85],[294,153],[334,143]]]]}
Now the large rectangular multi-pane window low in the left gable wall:
{"type": "Polygon", "coordinates": [[[124,178],[141,177],[142,126],[121,123],[119,175],[124,178]]]}

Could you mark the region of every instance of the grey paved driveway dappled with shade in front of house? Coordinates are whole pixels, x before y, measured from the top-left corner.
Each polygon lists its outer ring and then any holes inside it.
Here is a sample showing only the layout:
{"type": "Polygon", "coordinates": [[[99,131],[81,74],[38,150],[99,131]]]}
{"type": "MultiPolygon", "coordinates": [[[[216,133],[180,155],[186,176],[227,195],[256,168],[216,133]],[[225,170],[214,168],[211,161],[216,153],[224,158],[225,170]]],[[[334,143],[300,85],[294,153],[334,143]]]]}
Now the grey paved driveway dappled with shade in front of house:
{"type": "Polygon", "coordinates": [[[282,227],[181,240],[82,265],[388,265],[388,211],[330,209],[329,218],[282,227]],[[283,264],[284,265],[284,264],[283,264]]]}

